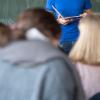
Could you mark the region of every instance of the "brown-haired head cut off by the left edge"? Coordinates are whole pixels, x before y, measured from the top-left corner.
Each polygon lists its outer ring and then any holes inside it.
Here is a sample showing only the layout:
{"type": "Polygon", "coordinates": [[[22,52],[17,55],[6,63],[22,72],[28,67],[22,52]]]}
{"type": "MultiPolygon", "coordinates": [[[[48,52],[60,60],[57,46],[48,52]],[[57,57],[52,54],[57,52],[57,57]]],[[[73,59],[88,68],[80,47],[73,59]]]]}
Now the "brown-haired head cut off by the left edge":
{"type": "Polygon", "coordinates": [[[12,39],[11,36],[10,28],[5,24],[0,23],[0,47],[5,46],[10,42],[12,39]]]}

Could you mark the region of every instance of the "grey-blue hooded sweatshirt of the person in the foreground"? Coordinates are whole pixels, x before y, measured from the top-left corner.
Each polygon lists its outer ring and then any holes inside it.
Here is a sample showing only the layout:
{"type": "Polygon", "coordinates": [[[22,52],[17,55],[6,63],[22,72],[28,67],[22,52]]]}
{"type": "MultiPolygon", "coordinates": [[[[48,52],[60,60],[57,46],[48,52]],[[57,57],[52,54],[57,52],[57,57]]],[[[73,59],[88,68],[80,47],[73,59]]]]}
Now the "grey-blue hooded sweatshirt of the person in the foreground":
{"type": "Polygon", "coordinates": [[[49,41],[0,50],[0,100],[86,100],[73,65],[49,41]]]}

